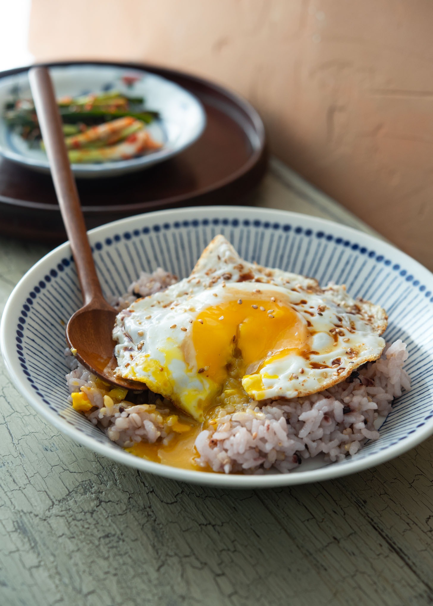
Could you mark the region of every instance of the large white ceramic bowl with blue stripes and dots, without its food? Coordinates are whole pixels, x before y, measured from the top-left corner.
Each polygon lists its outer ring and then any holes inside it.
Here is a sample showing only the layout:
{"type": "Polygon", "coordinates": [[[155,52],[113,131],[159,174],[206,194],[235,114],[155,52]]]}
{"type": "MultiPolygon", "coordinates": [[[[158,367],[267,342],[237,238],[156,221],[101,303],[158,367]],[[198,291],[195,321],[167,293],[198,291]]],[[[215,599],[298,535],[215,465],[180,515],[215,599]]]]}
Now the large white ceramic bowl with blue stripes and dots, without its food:
{"type": "Polygon", "coordinates": [[[52,425],[99,454],[167,478],[233,488],[264,488],[337,478],[398,456],[433,433],[433,276],[385,242],[324,219],[247,207],[164,210],[89,232],[106,295],[121,294],[139,270],[161,266],[189,274],[201,251],[223,233],[249,261],[345,283],[349,293],[383,305],[385,338],[408,344],[412,389],[395,401],[377,442],[344,461],[303,462],[288,474],[224,475],[167,467],[127,453],[67,403],[64,324],[81,306],[69,244],[32,267],[10,296],[0,342],[22,395],[52,425]]]}

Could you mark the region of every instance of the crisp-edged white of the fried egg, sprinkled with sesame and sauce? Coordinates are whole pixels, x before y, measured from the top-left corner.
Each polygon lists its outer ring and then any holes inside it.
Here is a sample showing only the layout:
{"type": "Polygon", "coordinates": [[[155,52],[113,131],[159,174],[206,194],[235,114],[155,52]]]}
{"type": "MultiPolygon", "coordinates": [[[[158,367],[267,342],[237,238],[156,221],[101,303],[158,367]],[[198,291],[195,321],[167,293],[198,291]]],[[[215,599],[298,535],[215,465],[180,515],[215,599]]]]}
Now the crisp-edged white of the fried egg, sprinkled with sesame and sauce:
{"type": "Polygon", "coordinates": [[[264,308],[249,311],[257,313],[257,330],[272,321],[268,316],[272,316],[273,297],[295,310],[298,325],[309,334],[307,354],[295,348],[280,358],[269,356],[241,378],[243,389],[254,400],[324,390],[381,355],[385,343],[380,335],[387,323],[382,308],[354,301],[344,286],[320,288],[313,279],[250,264],[220,235],[203,251],[188,278],[138,299],[118,314],[113,330],[118,342],[116,373],[142,381],[202,419],[222,385],[196,363],[193,325],[204,310],[247,299],[252,293],[264,308]]]}

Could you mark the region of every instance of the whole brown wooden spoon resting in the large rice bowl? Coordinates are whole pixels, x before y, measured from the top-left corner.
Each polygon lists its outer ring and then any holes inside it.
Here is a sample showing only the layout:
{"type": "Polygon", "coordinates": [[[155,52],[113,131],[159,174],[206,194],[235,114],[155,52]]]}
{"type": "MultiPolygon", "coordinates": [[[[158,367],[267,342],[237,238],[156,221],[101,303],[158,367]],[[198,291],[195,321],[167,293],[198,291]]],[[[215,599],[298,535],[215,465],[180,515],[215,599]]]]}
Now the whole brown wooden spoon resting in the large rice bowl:
{"type": "Polygon", "coordinates": [[[144,390],[144,383],[118,378],[113,373],[117,362],[112,330],[118,312],[104,299],[96,275],[49,71],[46,67],[32,67],[29,81],[84,299],[84,306],[75,312],[67,324],[67,342],[78,361],[104,381],[127,389],[144,390]]]}

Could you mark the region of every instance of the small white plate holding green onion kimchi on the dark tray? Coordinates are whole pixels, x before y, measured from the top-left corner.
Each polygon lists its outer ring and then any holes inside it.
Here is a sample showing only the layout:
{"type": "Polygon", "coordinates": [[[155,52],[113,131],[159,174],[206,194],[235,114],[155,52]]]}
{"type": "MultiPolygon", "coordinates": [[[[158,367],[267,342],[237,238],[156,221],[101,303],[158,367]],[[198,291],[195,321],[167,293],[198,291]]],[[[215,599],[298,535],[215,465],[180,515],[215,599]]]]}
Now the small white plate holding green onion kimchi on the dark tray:
{"type": "MultiPolygon", "coordinates": [[[[107,177],[131,173],[162,162],[198,139],[206,126],[206,113],[200,101],[174,82],[139,69],[115,65],[62,65],[50,68],[56,96],[78,96],[119,90],[128,96],[144,97],[146,109],[159,112],[147,128],[163,147],[130,160],[99,164],[72,164],[76,177],[107,177]]],[[[31,98],[27,72],[0,79],[0,153],[9,160],[33,170],[49,173],[45,152],[32,149],[2,118],[5,102],[18,93],[31,98]]]]}

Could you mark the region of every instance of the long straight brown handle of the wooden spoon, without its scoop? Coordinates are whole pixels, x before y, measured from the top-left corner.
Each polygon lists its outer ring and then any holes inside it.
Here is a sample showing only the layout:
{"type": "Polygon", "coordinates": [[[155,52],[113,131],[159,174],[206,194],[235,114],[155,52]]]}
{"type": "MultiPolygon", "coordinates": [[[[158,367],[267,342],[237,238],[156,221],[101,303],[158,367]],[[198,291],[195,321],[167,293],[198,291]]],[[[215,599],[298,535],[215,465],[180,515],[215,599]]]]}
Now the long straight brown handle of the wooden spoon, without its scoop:
{"type": "Polygon", "coordinates": [[[69,165],[62,121],[48,69],[32,67],[29,71],[29,81],[57,199],[75,259],[84,304],[88,304],[92,299],[102,299],[101,285],[87,239],[86,224],[69,165]]]}

